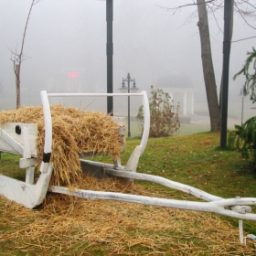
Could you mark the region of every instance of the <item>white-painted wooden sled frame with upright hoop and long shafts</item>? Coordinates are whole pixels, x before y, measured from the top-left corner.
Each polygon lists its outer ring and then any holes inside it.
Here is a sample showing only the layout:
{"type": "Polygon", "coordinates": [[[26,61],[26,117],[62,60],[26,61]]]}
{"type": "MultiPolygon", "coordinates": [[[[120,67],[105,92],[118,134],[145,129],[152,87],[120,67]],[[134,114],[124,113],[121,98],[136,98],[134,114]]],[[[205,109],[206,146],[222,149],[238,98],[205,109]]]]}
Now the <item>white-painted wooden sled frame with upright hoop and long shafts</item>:
{"type": "Polygon", "coordinates": [[[225,199],[208,194],[205,191],[190,187],[161,176],[153,176],[136,173],[140,156],[144,153],[148,140],[150,127],[150,110],[145,91],[141,93],[47,93],[40,92],[45,120],[45,144],[43,161],[40,165],[40,176],[37,183],[34,181],[35,163],[37,158],[37,124],[35,123],[9,123],[0,124],[0,151],[23,155],[19,159],[20,168],[27,168],[26,181],[0,175],[0,194],[10,200],[27,207],[36,208],[47,195],[47,192],[71,195],[87,199],[108,199],[132,202],[144,205],[162,206],[168,208],[181,208],[197,211],[218,213],[239,219],[240,242],[246,243],[243,237],[242,219],[256,220],[256,214],[251,213],[250,205],[256,205],[255,197],[236,197],[225,199]],[[52,164],[50,163],[52,147],[52,122],[48,97],[107,97],[107,96],[132,96],[141,97],[144,103],[144,133],[140,145],[137,145],[127,164],[121,164],[120,158],[112,165],[80,159],[85,166],[97,166],[104,170],[105,174],[126,178],[130,181],[140,179],[155,182],[165,187],[174,188],[187,194],[193,195],[207,202],[176,200],[159,197],[145,197],[116,192],[93,191],[76,188],[72,191],[69,187],[50,186],[49,180],[52,175],[52,164]]]}

